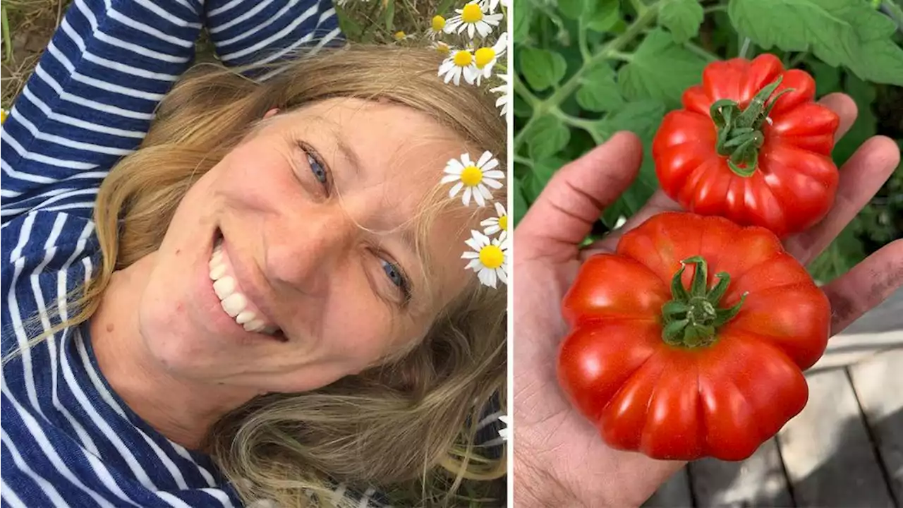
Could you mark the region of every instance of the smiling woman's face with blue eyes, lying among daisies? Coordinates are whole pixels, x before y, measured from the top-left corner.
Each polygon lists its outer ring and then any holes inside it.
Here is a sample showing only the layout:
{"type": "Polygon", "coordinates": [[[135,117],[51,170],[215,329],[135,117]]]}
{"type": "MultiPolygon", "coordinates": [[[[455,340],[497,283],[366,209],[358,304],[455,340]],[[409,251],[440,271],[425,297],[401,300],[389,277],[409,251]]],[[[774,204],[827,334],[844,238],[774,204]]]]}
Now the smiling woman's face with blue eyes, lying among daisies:
{"type": "Polygon", "coordinates": [[[267,118],[182,199],[141,296],[144,343],[173,374],[263,391],[316,389],[404,349],[470,280],[461,207],[420,246],[429,267],[414,247],[424,197],[463,151],[396,104],[267,118]]]}

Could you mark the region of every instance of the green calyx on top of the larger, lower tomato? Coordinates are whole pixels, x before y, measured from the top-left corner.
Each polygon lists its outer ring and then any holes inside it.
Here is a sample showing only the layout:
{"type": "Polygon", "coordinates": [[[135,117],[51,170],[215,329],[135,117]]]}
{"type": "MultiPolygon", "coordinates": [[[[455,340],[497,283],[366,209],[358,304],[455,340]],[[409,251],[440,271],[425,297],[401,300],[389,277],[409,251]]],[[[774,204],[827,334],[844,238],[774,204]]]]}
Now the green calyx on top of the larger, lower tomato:
{"type": "Polygon", "coordinates": [[[730,308],[719,308],[721,297],[728,290],[731,275],[720,272],[715,275],[718,282],[712,289],[706,287],[708,263],[702,256],[694,256],[681,261],[681,268],[671,280],[672,300],[662,306],[664,326],[662,339],[676,346],[688,348],[711,345],[716,341],[716,333],[721,325],[730,321],[740,312],[746,300],[746,293],[740,302],[730,308]],[[688,264],[696,265],[693,283],[688,292],[682,277],[688,264]]]}

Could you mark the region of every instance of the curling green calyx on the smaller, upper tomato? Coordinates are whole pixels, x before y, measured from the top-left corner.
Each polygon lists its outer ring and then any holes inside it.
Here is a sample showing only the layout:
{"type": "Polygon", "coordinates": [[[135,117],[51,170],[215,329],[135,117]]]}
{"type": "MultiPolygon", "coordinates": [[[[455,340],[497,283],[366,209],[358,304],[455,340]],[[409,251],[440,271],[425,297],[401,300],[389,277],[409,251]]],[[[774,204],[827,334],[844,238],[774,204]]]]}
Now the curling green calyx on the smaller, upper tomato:
{"type": "Polygon", "coordinates": [[[769,101],[781,80],[784,77],[778,76],[777,80],[760,89],[745,109],[740,109],[740,104],[731,99],[716,100],[709,109],[718,128],[718,154],[728,157],[728,166],[738,176],[747,177],[756,172],[759,148],[765,143],[762,125],[768,121],[768,114],[777,99],[793,90],[782,89],[769,101]]]}

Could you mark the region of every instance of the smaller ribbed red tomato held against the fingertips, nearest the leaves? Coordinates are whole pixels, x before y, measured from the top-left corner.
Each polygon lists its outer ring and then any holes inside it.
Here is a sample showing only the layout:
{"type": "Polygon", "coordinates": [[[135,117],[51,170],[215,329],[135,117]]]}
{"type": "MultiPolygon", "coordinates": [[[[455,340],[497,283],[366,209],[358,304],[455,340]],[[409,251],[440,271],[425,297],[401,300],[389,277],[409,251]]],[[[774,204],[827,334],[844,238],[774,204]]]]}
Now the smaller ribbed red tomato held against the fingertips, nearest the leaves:
{"type": "Polygon", "coordinates": [[[772,54],[715,61],[684,91],[652,145],[662,189],[684,209],[778,237],[821,221],[837,190],[840,120],[815,102],[815,80],[772,54]]]}

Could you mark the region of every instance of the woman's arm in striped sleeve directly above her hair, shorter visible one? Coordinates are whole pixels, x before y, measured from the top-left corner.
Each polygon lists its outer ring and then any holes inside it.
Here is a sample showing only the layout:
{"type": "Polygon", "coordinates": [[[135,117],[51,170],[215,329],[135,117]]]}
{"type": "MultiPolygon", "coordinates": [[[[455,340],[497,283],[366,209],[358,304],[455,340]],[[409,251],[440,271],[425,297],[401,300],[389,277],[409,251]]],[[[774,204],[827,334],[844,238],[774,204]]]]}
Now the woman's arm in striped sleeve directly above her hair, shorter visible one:
{"type": "Polygon", "coordinates": [[[332,0],[207,0],[204,11],[210,41],[229,66],[343,42],[332,0]]]}

